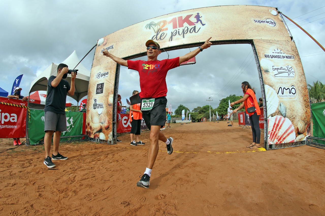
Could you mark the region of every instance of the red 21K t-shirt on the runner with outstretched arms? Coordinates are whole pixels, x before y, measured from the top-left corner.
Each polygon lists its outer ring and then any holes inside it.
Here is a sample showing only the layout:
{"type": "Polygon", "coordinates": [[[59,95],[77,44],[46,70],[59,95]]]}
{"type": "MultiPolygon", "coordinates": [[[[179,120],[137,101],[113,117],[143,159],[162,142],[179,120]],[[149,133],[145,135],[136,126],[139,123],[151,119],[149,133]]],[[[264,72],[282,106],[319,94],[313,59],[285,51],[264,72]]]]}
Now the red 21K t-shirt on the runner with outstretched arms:
{"type": "Polygon", "coordinates": [[[159,98],[167,95],[166,75],[168,70],[179,66],[179,57],[157,61],[127,60],[129,69],[140,76],[140,98],[159,98]]]}

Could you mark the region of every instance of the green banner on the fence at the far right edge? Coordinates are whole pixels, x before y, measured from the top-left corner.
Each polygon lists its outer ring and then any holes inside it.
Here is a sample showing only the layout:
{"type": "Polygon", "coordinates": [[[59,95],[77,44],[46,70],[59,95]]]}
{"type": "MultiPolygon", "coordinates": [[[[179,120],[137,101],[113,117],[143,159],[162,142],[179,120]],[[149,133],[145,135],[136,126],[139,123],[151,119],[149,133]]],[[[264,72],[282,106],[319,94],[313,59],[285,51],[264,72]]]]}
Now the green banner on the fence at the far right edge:
{"type": "MultiPolygon", "coordinates": [[[[325,102],[312,103],[313,137],[325,138],[325,102]]],[[[313,142],[325,144],[325,141],[314,139],[313,142]]]]}

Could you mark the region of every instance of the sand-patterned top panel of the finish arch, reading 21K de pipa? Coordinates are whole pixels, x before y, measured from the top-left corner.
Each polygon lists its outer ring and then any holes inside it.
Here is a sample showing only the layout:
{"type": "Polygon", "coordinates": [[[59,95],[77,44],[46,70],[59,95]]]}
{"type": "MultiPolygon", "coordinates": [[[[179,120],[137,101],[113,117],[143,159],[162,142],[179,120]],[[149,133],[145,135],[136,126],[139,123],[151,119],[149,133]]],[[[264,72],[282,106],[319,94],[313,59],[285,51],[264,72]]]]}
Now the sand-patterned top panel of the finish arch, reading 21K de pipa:
{"type": "MultiPolygon", "coordinates": [[[[145,42],[161,48],[224,40],[291,40],[275,7],[214,6],[175,12],[123,28],[98,40],[94,66],[103,49],[119,57],[145,52],[145,42]]],[[[105,58],[104,58],[105,59],[105,58]]]]}

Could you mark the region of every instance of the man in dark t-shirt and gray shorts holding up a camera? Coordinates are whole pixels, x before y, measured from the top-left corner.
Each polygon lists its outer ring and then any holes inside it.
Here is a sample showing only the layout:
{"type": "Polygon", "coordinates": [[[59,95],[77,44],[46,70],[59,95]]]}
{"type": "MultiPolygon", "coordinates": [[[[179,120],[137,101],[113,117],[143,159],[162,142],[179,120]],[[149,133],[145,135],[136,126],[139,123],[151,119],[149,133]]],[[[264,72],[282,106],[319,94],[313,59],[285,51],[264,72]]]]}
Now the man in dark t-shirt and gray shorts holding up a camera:
{"type": "Polygon", "coordinates": [[[77,70],[69,70],[65,64],[59,64],[57,76],[51,76],[47,82],[47,97],[45,101],[45,115],[44,115],[44,149],[45,160],[44,164],[48,168],[55,167],[52,160],[67,160],[59,154],[59,142],[61,132],[67,130],[66,116],[65,116],[65,103],[67,93],[71,96],[74,95],[74,80],[76,78],[77,70]],[[68,81],[64,80],[68,77],[67,74],[71,73],[71,86],[68,81]],[[53,154],[52,160],[49,157],[51,150],[51,140],[53,136],[53,154]]]}

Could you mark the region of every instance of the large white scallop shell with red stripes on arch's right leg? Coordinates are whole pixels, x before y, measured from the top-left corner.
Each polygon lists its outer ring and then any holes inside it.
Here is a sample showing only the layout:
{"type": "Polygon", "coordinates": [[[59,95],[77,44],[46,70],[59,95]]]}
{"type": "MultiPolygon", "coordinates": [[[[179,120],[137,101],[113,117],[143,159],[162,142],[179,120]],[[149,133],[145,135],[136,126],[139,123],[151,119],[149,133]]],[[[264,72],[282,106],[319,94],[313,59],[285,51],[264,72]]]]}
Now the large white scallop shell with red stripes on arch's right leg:
{"type": "Polygon", "coordinates": [[[267,119],[268,144],[294,142],[296,134],[292,122],[281,115],[267,119]]]}

